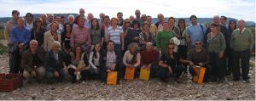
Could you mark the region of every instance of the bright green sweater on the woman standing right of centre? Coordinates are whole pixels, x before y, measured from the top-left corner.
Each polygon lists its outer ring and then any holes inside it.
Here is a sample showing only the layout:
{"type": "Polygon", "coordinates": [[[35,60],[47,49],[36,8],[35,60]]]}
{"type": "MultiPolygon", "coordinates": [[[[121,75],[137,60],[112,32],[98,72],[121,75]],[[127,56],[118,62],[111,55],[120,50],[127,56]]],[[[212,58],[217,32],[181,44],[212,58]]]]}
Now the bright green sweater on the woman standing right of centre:
{"type": "Polygon", "coordinates": [[[156,47],[165,49],[167,48],[170,39],[174,36],[172,31],[160,31],[155,38],[156,47]]]}

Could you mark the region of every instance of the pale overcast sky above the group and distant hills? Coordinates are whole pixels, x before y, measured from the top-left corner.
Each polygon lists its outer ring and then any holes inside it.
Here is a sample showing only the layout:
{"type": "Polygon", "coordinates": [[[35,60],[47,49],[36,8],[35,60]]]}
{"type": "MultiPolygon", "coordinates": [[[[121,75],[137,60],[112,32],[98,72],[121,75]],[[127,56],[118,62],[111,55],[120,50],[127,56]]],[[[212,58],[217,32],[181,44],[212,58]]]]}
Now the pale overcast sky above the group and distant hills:
{"type": "Polygon", "coordinates": [[[142,14],[153,17],[157,14],[177,18],[191,14],[200,18],[225,15],[255,22],[255,0],[0,0],[0,17],[11,16],[13,9],[18,9],[22,16],[28,12],[79,14],[79,8],[84,8],[86,14],[92,13],[96,18],[100,13],[115,17],[118,12],[128,18],[140,9],[142,14]]]}

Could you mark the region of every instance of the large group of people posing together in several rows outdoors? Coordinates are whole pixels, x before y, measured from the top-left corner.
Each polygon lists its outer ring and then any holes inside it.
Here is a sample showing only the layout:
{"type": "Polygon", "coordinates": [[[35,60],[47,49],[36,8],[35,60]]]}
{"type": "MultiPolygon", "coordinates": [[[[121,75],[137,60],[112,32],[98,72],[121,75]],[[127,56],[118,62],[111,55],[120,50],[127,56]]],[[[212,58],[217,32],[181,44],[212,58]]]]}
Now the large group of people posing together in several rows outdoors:
{"type": "MultiPolygon", "coordinates": [[[[158,22],[135,11],[136,17],[123,19],[121,12],[109,18],[100,14],[96,19],[84,8],[79,15],[67,17],[41,14],[33,18],[27,13],[13,18],[5,27],[9,46],[9,73],[23,74],[28,82],[46,80],[72,82],[100,79],[106,81],[108,72],[118,71],[124,78],[125,68],[150,69],[150,78],[180,82],[179,77],[189,70],[205,67],[204,81],[224,81],[232,74],[234,81],[249,81],[249,59],[253,48],[253,33],[245,28],[245,20],[230,20],[214,16],[207,28],[190,16],[191,25],[174,17],[158,22]],[[237,25],[237,26],[236,26],[237,25]],[[240,71],[241,59],[241,71],[240,71]]],[[[191,77],[192,77],[191,76],[191,77]]]]}

